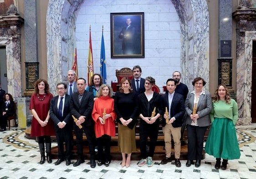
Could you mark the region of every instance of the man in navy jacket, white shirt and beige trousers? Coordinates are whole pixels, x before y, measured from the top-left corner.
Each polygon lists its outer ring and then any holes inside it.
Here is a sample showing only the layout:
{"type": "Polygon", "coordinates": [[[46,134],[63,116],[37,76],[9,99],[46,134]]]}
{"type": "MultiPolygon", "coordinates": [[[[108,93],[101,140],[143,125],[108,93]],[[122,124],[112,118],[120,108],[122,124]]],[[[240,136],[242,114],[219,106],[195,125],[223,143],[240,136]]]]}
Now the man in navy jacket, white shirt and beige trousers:
{"type": "Polygon", "coordinates": [[[166,113],[162,116],[164,120],[162,120],[163,133],[164,133],[164,142],[165,142],[165,150],[166,157],[161,161],[161,164],[167,164],[171,162],[171,153],[172,153],[172,138],[174,141],[174,157],[175,157],[175,165],[176,167],[181,167],[181,163],[179,160],[180,157],[180,137],[181,137],[181,126],[182,119],[185,113],[184,107],[184,99],[183,95],[175,92],[177,82],[169,78],[166,82],[167,91],[164,95],[162,95],[162,102],[164,111],[168,111],[168,116],[166,113]],[[165,119],[168,119],[168,123],[166,123],[165,119]]]}

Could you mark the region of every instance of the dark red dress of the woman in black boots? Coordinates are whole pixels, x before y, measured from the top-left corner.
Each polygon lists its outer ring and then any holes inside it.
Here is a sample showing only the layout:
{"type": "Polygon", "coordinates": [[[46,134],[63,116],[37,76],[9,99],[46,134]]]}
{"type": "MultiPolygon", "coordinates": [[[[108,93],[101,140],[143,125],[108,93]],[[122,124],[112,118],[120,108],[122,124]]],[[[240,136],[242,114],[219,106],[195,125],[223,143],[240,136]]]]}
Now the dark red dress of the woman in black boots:
{"type": "MultiPolygon", "coordinates": [[[[50,109],[50,101],[53,97],[52,93],[45,94],[45,98],[43,101],[39,101],[37,98],[37,94],[33,94],[31,96],[31,101],[29,104],[29,109],[35,109],[37,112],[38,117],[45,121],[47,118],[48,111],[50,109]]],[[[39,94],[39,98],[43,98],[43,94],[39,94]]],[[[31,124],[31,136],[50,136],[55,135],[55,131],[53,128],[53,122],[51,119],[49,119],[47,125],[45,127],[42,127],[37,119],[33,116],[32,118],[32,124],[31,124]]]]}

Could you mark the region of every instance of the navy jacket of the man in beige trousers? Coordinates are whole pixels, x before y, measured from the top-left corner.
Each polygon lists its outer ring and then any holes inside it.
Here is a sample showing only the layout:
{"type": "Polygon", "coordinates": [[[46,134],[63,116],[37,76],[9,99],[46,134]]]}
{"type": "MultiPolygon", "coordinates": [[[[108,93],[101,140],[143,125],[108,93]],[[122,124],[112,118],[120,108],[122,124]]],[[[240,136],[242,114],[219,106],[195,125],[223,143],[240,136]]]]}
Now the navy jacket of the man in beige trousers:
{"type": "MultiPolygon", "coordinates": [[[[167,109],[169,108],[169,100],[168,100],[168,94],[169,92],[166,92],[164,95],[162,95],[162,102],[163,102],[163,114],[162,114],[162,127],[166,125],[165,119],[163,117],[165,113],[165,107],[167,109]]],[[[178,128],[182,126],[182,119],[185,114],[185,107],[184,107],[184,99],[183,95],[179,94],[178,92],[174,92],[173,98],[172,98],[172,104],[171,104],[171,111],[170,116],[175,117],[175,121],[172,123],[172,126],[174,128],[178,128]]]]}

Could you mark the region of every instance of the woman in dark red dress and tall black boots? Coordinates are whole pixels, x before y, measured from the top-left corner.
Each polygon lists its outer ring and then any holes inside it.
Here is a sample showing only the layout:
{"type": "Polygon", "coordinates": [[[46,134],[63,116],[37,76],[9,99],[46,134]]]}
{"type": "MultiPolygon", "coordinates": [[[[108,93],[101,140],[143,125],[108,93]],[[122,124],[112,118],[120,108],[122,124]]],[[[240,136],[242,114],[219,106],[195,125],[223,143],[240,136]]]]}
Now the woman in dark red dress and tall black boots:
{"type": "Polygon", "coordinates": [[[52,163],[51,135],[55,135],[53,122],[49,115],[52,97],[52,93],[49,92],[48,82],[44,79],[38,79],[35,83],[34,94],[31,96],[29,109],[33,114],[30,135],[38,137],[38,146],[41,154],[40,164],[45,161],[45,148],[47,162],[49,164],[52,163]]]}

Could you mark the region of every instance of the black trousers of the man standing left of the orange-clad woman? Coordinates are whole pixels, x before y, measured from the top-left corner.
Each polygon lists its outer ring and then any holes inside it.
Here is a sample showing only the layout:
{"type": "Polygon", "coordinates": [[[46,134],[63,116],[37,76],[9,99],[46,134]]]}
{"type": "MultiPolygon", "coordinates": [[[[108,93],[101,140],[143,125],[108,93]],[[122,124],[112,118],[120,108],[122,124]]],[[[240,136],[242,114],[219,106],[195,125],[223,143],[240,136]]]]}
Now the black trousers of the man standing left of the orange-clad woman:
{"type": "Polygon", "coordinates": [[[84,160],[84,145],[83,145],[83,130],[85,132],[87,141],[88,141],[88,146],[89,146],[89,153],[91,156],[91,159],[94,159],[95,157],[95,146],[94,146],[94,127],[93,126],[88,126],[83,128],[78,128],[77,125],[74,126],[74,131],[76,135],[76,143],[77,143],[77,157],[78,159],[84,160]]]}

